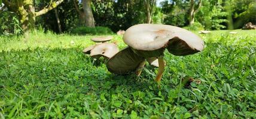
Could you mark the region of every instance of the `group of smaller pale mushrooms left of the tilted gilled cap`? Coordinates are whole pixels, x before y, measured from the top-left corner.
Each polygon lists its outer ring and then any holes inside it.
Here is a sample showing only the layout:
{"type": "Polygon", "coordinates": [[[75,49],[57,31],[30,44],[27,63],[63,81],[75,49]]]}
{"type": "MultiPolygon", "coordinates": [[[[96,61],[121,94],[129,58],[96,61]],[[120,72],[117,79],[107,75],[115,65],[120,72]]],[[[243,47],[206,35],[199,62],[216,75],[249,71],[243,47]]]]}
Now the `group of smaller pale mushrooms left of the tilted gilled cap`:
{"type": "Polygon", "coordinates": [[[106,59],[111,58],[119,51],[115,43],[108,43],[112,36],[105,37],[93,37],[91,40],[96,42],[96,45],[89,46],[83,50],[84,54],[90,54],[92,58],[104,57],[106,59]]]}

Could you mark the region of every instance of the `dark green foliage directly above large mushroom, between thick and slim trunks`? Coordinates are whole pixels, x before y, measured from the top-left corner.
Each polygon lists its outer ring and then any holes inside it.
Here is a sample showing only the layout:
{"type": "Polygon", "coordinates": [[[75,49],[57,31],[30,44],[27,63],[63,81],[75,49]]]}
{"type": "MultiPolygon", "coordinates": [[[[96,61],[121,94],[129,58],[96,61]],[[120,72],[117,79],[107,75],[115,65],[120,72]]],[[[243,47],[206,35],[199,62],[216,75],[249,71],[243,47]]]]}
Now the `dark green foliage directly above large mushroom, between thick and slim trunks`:
{"type": "Polygon", "coordinates": [[[97,26],[106,26],[117,32],[145,22],[144,1],[96,0],[92,2],[97,26]]]}

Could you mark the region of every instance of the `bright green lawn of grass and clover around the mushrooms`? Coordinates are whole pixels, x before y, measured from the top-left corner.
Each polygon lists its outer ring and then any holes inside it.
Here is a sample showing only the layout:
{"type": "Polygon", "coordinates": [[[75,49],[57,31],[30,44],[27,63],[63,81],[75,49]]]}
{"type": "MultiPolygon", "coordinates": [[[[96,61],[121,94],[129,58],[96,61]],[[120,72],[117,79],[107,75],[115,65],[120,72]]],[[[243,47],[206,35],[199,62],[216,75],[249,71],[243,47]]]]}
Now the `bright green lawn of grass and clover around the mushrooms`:
{"type": "Polygon", "coordinates": [[[228,32],[200,35],[194,55],[166,52],[161,88],[148,64],[141,77],[114,76],[82,54],[95,36],[2,36],[0,118],[256,118],[256,30],[228,32]],[[201,83],[182,87],[184,77],[201,83]]]}

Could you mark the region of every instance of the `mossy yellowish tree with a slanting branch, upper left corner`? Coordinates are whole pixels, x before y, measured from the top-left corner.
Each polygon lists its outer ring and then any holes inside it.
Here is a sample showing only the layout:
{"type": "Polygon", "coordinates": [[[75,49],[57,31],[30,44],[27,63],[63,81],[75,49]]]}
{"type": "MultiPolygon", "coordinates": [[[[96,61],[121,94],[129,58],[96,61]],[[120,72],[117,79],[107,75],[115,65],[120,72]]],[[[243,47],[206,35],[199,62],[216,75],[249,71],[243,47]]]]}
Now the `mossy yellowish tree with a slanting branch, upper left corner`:
{"type": "Polygon", "coordinates": [[[44,7],[42,10],[35,11],[33,0],[3,0],[5,6],[9,11],[15,12],[19,16],[20,23],[23,31],[28,31],[35,28],[35,18],[39,15],[45,14],[48,11],[56,8],[64,0],[57,0],[51,2],[48,7],[44,7]]]}

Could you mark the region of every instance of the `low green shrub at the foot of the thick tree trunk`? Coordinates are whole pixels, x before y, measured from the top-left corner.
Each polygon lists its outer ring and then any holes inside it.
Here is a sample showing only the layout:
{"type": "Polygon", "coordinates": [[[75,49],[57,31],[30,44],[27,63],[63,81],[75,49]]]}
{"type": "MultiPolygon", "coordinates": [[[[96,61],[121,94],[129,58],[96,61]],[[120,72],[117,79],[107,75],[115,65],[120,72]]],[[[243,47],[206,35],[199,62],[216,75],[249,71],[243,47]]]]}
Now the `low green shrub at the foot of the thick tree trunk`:
{"type": "Polygon", "coordinates": [[[112,34],[113,32],[108,27],[97,26],[93,28],[93,27],[81,26],[81,27],[76,27],[74,29],[71,29],[70,33],[78,34],[78,35],[108,35],[108,34],[112,34]]]}

